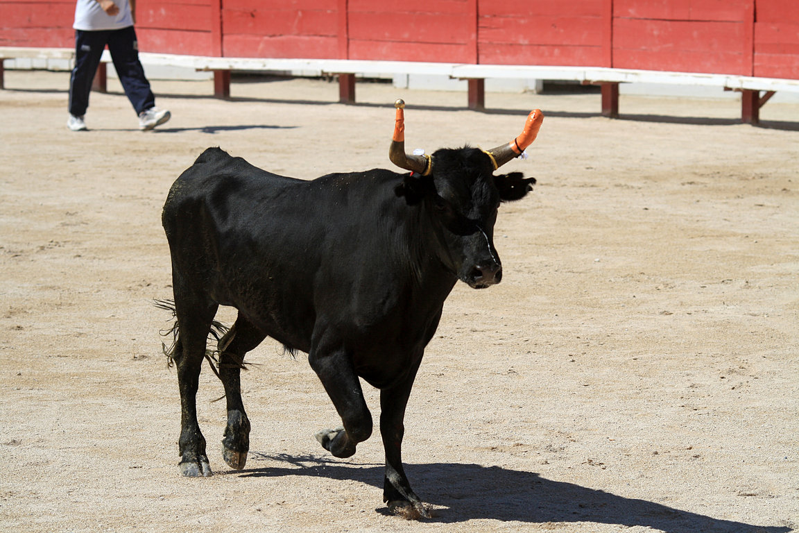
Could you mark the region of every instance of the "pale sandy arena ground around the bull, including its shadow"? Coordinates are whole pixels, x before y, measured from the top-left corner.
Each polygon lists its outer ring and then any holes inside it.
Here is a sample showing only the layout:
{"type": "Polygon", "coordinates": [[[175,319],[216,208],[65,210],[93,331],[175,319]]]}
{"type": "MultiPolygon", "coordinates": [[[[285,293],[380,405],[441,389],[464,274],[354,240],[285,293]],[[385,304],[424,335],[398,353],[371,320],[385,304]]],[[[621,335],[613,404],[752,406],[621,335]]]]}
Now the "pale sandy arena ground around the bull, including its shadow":
{"type": "MultiPolygon", "coordinates": [[[[115,82],[66,129],[68,74],[0,91],[0,528],[3,531],[694,531],[799,528],[799,105],[737,123],[736,101],[487,95],[335,84],[153,81],[151,133],[115,82]],[[502,284],[459,284],[407,409],[404,460],[435,518],[382,503],[378,436],[352,459],[313,438],[336,413],[304,355],[244,373],[244,471],[221,459],[221,384],[201,376],[216,472],[179,475],[161,205],[218,145],[277,173],[392,168],[408,148],[510,141],[547,115],[539,179],[503,205],[502,284]]],[[[229,310],[222,320],[233,318],[229,310]]],[[[367,389],[373,416],[376,392],[367,389]]]]}

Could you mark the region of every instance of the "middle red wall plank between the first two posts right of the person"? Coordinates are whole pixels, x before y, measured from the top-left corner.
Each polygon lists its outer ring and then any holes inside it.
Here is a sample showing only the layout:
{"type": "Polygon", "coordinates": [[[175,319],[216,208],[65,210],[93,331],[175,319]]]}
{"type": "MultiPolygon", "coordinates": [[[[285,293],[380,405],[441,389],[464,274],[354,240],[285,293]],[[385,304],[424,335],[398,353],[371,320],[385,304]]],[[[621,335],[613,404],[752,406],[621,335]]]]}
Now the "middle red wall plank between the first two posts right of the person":
{"type": "Polygon", "coordinates": [[[223,10],[225,34],[326,35],[338,34],[336,11],[319,10],[223,10]]]}

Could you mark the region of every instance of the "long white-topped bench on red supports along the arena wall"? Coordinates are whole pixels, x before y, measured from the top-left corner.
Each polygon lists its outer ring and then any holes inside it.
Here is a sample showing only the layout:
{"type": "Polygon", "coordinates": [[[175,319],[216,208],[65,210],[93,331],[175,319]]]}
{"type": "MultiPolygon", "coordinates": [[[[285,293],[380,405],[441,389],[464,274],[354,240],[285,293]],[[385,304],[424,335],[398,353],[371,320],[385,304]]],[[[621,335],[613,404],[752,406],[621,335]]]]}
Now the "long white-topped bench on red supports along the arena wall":
{"type": "MultiPolygon", "coordinates": [[[[513,66],[467,65],[459,63],[368,61],[355,59],[284,59],[284,58],[215,58],[177,54],[142,52],[145,65],[185,67],[213,72],[214,95],[230,96],[230,73],[247,72],[315,72],[335,75],[339,81],[339,101],[356,101],[356,76],[374,77],[386,74],[425,74],[447,76],[467,81],[469,109],[485,108],[487,78],[565,80],[597,85],[602,92],[602,115],[618,117],[618,86],[621,83],[657,83],[681,86],[712,86],[741,92],[741,120],[749,124],[760,121],[760,108],[777,91],[799,93],[799,80],[753,78],[731,74],[693,74],[659,70],[627,70],[578,66],[513,66]]],[[[74,58],[74,50],[62,48],[0,47],[0,59],[9,58],[74,58]]],[[[105,64],[110,61],[105,50],[94,88],[105,90],[105,64]]],[[[0,89],[3,87],[0,62],[0,89]]]]}

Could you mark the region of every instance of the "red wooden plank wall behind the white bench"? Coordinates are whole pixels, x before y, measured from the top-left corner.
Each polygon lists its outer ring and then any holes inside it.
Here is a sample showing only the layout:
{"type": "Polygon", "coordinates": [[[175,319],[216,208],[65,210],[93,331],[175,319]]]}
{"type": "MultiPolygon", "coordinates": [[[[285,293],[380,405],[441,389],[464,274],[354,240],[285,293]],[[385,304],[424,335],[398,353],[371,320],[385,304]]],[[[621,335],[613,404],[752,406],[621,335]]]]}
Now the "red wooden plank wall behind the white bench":
{"type": "MultiPolygon", "coordinates": [[[[0,0],[0,46],[71,47],[74,0],[0,0]]],[[[137,0],[145,52],[613,66],[799,79],[797,0],[137,0]]]]}

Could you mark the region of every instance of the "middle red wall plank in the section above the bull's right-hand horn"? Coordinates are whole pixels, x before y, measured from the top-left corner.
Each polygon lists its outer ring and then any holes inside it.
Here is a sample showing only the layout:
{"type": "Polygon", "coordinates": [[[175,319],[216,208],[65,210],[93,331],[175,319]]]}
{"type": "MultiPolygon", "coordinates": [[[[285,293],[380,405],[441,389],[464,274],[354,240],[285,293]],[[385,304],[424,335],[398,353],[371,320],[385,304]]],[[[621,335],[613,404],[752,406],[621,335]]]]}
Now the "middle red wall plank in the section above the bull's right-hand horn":
{"type": "Polygon", "coordinates": [[[602,21],[598,17],[481,18],[479,42],[602,46],[602,21]]]}

